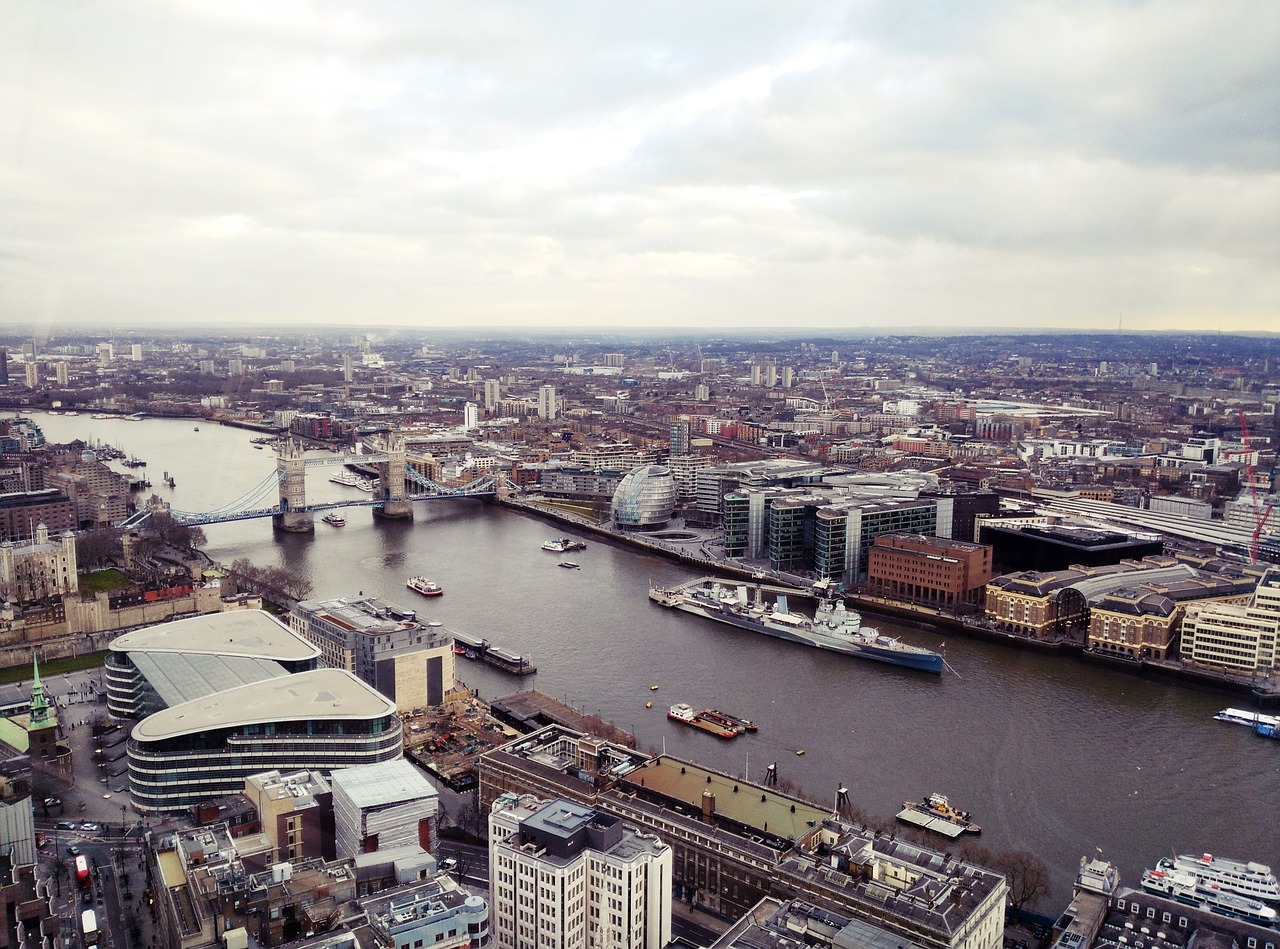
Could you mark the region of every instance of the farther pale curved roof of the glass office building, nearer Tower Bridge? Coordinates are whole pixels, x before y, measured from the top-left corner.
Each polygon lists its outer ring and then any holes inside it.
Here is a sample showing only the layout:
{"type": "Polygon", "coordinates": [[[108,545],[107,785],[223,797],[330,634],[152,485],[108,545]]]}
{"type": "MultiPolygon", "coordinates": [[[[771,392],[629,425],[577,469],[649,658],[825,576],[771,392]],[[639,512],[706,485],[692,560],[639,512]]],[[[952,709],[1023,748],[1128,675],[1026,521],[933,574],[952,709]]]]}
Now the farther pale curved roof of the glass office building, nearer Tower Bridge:
{"type": "Polygon", "coordinates": [[[136,629],[116,637],[111,652],[241,656],[279,662],[316,658],[320,651],[262,610],[228,610],[136,629]]]}

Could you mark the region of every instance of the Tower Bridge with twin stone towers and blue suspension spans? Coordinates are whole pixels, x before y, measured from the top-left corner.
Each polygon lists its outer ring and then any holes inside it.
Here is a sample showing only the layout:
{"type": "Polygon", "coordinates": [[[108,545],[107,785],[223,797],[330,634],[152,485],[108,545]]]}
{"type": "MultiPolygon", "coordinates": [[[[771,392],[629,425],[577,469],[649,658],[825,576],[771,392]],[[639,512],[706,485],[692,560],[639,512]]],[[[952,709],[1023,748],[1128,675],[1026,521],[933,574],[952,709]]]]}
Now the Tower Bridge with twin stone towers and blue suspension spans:
{"type": "Polygon", "coordinates": [[[433,480],[412,464],[404,448],[404,439],[398,434],[376,439],[371,451],[342,452],[332,457],[307,457],[303,447],[292,438],[276,447],[275,470],[251,488],[244,496],[220,508],[204,512],[178,511],[163,501],[137,511],[118,526],[136,528],[152,514],[168,512],[175,521],[198,526],[221,524],[224,521],[270,517],[278,530],[291,533],[310,533],[315,530],[315,515],[342,507],[371,507],[380,517],[396,520],[413,519],[415,501],[445,501],[449,498],[506,497],[515,485],[506,475],[493,474],[476,478],[466,484],[440,484],[433,480]],[[378,482],[371,497],[351,501],[325,501],[307,503],[306,473],[314,467],[333,467],[335,465],[369,465],[378,471],[378,482]],[[415,491],[410,491],[410,484],[415,491]],[[276,503],[264,507],[273,492],[276,503]]]}

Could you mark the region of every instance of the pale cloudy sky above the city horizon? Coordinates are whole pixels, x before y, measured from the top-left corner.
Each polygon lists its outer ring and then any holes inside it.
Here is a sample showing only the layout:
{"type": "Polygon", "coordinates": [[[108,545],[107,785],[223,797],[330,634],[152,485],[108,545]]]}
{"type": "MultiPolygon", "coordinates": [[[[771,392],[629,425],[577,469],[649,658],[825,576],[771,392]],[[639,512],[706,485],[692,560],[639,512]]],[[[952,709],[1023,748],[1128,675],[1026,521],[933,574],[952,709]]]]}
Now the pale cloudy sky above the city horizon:
{"type": "Polygon", "coordinates": [[[1275,0],[0,0],[0,324],[1275,332],[1277,50],[1275,0]]]}

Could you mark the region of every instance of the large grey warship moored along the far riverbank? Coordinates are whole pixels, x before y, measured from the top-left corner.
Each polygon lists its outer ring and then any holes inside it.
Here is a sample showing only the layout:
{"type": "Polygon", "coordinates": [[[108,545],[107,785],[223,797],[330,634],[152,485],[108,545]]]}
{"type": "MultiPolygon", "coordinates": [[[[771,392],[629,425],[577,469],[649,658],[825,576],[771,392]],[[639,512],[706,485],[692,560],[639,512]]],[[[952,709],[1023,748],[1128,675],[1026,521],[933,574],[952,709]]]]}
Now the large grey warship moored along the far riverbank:
{"type": "Polygon", "coordinates": [[[882,635],[872,626],[864,626],[861,616],[854,610],[847,610],[840,599],[822,599],[810,620],[787,608],[786,594],[778,594],[769,606],[764,603],[756,587],[756,597],[751,602],[746,584],[721,581],[710,576],[678,587],[650,585],[649,599],[716,622],[845,656],[924,672],[942,672],[946,665],[941,653],[904,643],[895,637],[882,635]]]}

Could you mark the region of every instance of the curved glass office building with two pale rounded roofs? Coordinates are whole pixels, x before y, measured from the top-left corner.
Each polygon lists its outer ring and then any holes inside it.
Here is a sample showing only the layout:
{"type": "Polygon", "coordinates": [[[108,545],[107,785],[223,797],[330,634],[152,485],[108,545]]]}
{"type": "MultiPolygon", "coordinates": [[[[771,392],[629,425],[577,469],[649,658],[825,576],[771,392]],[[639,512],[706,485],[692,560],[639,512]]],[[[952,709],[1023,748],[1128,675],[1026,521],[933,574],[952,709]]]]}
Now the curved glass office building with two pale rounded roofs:
{"type": "Polygon", "coordinates": [[[108,708],[137,721],[129,791],[143,812],[243,790],[262,771],[401,757],[396,704],[353,674],[316,669],[319,649],[259,610],[195,616],[113,640],[108,708]]]}

